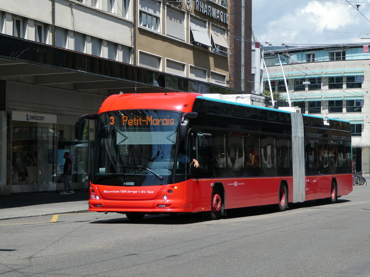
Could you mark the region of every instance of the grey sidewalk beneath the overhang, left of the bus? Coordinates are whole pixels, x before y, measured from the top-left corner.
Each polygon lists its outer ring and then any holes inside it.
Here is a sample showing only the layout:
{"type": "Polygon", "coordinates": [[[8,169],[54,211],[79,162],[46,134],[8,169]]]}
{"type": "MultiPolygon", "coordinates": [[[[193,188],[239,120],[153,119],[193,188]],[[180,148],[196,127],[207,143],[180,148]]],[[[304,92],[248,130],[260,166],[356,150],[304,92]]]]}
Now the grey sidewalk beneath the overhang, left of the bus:
{"type": "Polygon", "coordinates": [[[0,196],[0,220],[59,213],[86,212],[87,190],[60,195],[57,192],[0,196]]]}

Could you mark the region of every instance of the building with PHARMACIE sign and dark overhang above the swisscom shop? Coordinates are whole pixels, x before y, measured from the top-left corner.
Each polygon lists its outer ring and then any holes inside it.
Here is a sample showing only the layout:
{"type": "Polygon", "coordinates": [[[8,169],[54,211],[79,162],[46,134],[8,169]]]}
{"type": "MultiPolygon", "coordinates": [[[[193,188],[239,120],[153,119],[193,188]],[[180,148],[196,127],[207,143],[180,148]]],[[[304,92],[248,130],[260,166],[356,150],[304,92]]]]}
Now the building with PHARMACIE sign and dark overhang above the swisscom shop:
{"type": "Polygon", "coordinates": [[[0,1],[0,194],[63,189],[65,151],[87,188],[95,122],[83,141],[74,124],[111,94],[244,93],[229,86],[230,2],[0,1]]]}

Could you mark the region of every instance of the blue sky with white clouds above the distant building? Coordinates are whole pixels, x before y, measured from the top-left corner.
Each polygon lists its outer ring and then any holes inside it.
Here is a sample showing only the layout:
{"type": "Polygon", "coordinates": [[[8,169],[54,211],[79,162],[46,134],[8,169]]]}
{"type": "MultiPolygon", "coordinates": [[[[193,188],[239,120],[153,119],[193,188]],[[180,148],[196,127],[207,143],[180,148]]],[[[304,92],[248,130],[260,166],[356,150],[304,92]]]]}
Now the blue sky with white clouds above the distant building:
{"type": "Polygon", "coordinates": [[[252,29],[265,46],[370,42],[370,0],[252,0],[252,29]]]}

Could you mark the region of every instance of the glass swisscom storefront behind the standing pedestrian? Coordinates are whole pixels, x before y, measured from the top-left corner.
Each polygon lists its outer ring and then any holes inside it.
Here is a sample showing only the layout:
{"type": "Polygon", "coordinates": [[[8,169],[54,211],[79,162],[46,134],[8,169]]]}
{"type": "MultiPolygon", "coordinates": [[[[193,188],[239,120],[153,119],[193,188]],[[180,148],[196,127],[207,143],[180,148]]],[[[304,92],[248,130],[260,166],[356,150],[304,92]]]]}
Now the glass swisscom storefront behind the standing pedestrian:
{"type": "Polygon", "coordinates": [[[88,123],[83,140],[76,141],[77,117],[14,111],[8,117],[6,185],[11,193],[63,190],[65,152],[72,160],[72,187],[88,187],[88,123]]]}

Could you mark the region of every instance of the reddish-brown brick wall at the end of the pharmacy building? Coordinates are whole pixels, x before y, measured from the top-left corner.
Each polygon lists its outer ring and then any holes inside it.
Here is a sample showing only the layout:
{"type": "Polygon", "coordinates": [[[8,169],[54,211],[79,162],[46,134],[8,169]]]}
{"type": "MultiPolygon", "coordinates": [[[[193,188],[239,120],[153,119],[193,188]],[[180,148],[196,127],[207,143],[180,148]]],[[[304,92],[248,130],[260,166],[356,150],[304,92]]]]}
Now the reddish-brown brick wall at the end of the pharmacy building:
{"type": "MultiPolygon", "coordinates": [[[[230,3],[230,52],[229,64],[230,64],[230,87],[234,89],[242,88],[242,1],[229,1],[230,3]]],[[[251,38],[252,38],[252,0],[245,0],[245,44],[244,44],[244,90],[251,92],[253,88],[252,80],[252,49],[251,49],[251,38]]]]}

